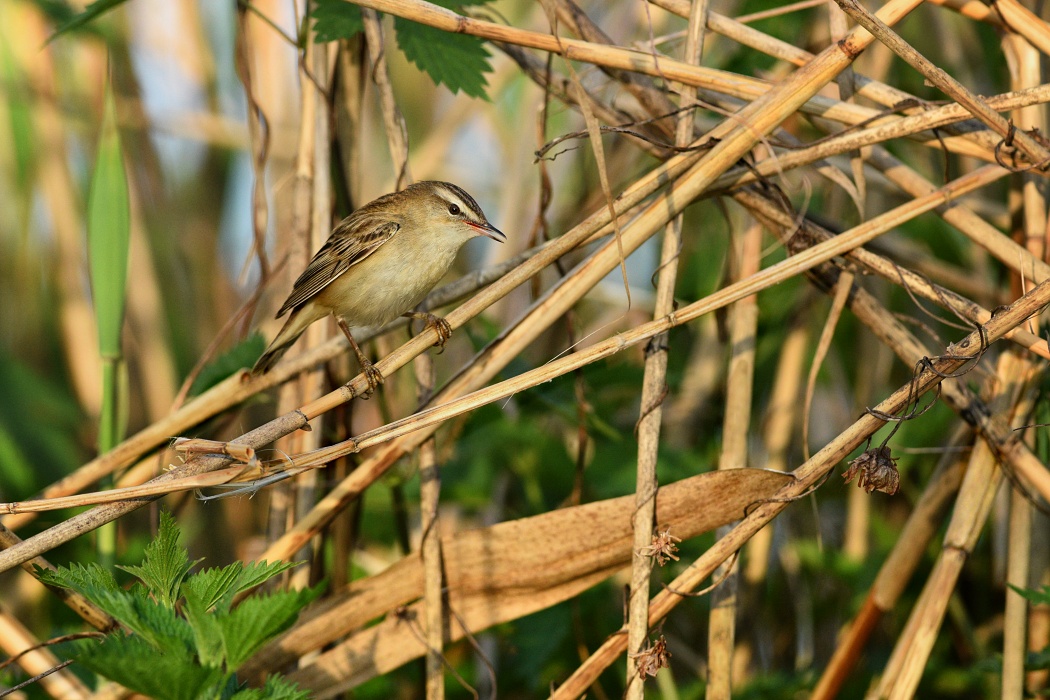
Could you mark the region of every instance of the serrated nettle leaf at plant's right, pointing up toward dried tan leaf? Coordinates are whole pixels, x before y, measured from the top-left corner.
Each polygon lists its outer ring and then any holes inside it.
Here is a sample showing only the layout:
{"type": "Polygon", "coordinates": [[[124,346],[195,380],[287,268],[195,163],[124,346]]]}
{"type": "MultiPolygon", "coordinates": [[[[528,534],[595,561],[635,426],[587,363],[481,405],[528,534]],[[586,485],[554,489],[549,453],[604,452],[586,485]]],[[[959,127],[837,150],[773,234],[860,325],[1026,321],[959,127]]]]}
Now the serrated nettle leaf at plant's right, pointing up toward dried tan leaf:
{"type": "Polygon", "coordinates": [[[236,671],[262,644],[292,627],[299,611],[323,591],[322,586],[245,598],[227,616],[218,617],[226,662],[236,671]]]}

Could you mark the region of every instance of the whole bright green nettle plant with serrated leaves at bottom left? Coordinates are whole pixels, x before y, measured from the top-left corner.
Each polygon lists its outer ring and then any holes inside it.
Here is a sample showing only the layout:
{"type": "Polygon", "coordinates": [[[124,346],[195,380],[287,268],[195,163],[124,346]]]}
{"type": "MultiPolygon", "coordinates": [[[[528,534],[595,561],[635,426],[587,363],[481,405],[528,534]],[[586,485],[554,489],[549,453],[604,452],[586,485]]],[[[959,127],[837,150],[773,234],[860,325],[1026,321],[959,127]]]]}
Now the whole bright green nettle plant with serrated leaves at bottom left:
{"type": "Polygon", "coordinates": [[[81,593],[121,624],[101,642],[70,642],[68,653],[96,674],[162,700],[310,697],[279,676],[262,687],[245,687],[236,672],[290,628],[321,587],[249,595],[234,606],[239,593],[295,565],[235,561],[190,574],[200,560],[189,560],[178,538],[174,518],[162,513],[142,565],[119,567],[138,578],[126,590],[97,564],[38,569],[42,580],[81,593]]]}

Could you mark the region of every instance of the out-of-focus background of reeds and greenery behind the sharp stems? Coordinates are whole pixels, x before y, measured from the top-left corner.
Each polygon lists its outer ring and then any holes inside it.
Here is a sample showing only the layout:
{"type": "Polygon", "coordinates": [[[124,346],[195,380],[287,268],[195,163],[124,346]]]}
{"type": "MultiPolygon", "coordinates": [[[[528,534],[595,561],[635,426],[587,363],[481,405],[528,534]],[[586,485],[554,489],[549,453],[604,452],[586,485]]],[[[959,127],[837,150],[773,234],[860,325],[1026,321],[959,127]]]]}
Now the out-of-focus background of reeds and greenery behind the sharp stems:
{"type": "MultiPolygon", "coordinates": [[[[332,4],[318,6],[331,8],[332,4]]],[[[685,27],[680,18],[636,1],[583,4],[622,45],[642,45],[657,37],[666,40],[662,48],[677,50],[680,35],[676,33],[685,27]]],[[[779,4],[777,0],[728,0],[715,3],[715,8],[743,16],[779,4]]],[[[126,433],[167,415],[187,393],[198,393],[250,364],[261,348],[261,340],[252,334],[258,331],[270,337],[275,332],[272,314],[297,272],[280,268],[282,236],[293,210],[301,116],[300,48],[287,37],[298,36],[310,21],[303,18],[301,3],[255,0],[252,8],[238,20],[237,5],[232,2],[132,0],[48,41],[58,26],[69,21],[72,10],[82,8],[45,0],[0,4],[0,201],[4,203],[0,206],[0,501],[29,497],[97,452],[102,362],[88,279],[85,217],[107,78],[116,96],[130,190],[123,334],[126,433]],[[236,67],[242,31],[250,38],[254,98],[269,127],[270,148],[262,171],[253,165],[248,103],[236,67]],[[265,233],[274,267],[258,299],[253,294],[264,275],[259,257],[252,251],[254,178],[265,184],[265,233]],[[250,313],[238,316],[246,303],[250,313]],[[231,348],[231,355],[222,357],[231,348]]],[[[514,26],[547,30],[537,3],[498,0],[480,12],[514,26]]],[[[800,9],[759,20],[755,26],[796,46],[819,50],[830,41],[826,12],[823,6],[800,9]]],[[[393,24],[384,22],[390,34],[393,24]]],[[[902,24],[901,31],[975,91],[1008,89],[1006,61],[993,28],[923,6],[902,24]]],[[[413,176],[463,186],[508,234],[509,242],[503,247],[467,247],[459,261],[460,272],[494,264],[534,242],[530,236],[536,235],[541,214],[541,181],[533,152],[548,139],[584,128],[583,119],[556,101],[551,101],[547,124],[541,128],[538,113],[543,90],[502,51],[486,46],[491,55],[487,85],[458,93],[435,85],[400,51],[385,54],[405,119],[413,176]]],[[[709,38],[704,64],[749,76],[784,73],[782,63],[715,36],[709,38]]],[[[880,47],[858,63],[862,72],[891,81],[918,97],[939,97],[918,73],[902,66],[880,47]]],[[[578,67],[600,94],[613,101],[620,97],[593,68],[578,67]]],[[[362,104],[356,168],[340,173],[338,163],[333,167],[334,220],[395,187],[378,100],[370,93],[362,104]],[[355,176],[346,177],[346,173],[355,176]]],[[[786,126],[803,140],[820,135],[801,121],[786,126]]],[[[621,136],[606,136],[605,147],[613,192],[656,163],[621,136]]],[[[943,169],[943,154],[932,149],[910,144],[892,149],[931,177],[943,169]]],[[[582,213],[604,206],[586,141],[569,142],[555,151],[556,158],[545,163],[552,199],[543,212],[552,235],[576,224],[582,213]]],[[[334,156],[335,161],[344,157],[342,153],[334,156]]],[[[953,160],[952,167],[969,168],[972,163],[953,160]]],[[[839,229],[860,220],[840,190],[817,179],[812,173],[785,176],[785,189],[796,206],[839,229]]],[[[900,199],[881,183],[870,185],[869,212],[900,199]]],[[[1005,228],[1007,210],[995,204],[1006,200],[1004,188],[988,188],[981,204],[987,218],[1005,228]]],[[[688,210],[677,282],[680,299],[700,298],[724,282],[729,233],[742,226],[740,210],[726,201],[706,199],[688,210]]],[[[765,239],[763,266],[783,258],[773,241],[765,239]]],[[[945,277],[954,274],[954,279],[967,284],[960,291],[989,309],[1011,298],[1009,279],[1001,267],[931,215],[901,227],[879,246],[903,251],[912,261],[939,266],[945,277]]],[[[657,258],[655,240],[631,257],[630,309],[618,273],[611,274],[503,376],[538,366],[566,352],[570,342],[586,346],[651,318],[650,278],[657,258]]],[[[484,318],[458,332],[446,351],[435,357],[439,384],[553,279],[553,272],[546,274],[539,287],[516,291],[484,318]]],[[[920,318],[930,328],[937,326],[940,335],[931,341],[934,347],[958,337],[959,331],[923,317],[899,288],[873,287],[890,309],[920,318]]],[[[761,427],[785,338],[794,327],[801,327],[807,338],[807,357],[812,356],[830,302],[796,278],[762,292],[758,304],[751,440],[751,466],[755,467],[763,466],[761,427]]],[[[724,317],[718,314],[670,335],[669,397],[659,455],[664,483],[717,465],[728,357],[723,324],[724,317]]],[[[403,337],[380,340],[379,352],[403,337]]],[[[460,529],[633,492],[637,460],[633,430],[642,366],[642,351],[632,349],[452,421],[438,439],[444,463],[445,526],[460,529]]],[[[819,448],[910,374],[911,367],[874,343],[868,331],[846,315],[820,369],[812,448],[819,448]]],[[[414,393],[411,376],[402,373],[387,381],[377,399],[355,405],[344,420],[354,433],[375,427],[411,412],[414,393]]],[[[253,398],[196,426],[187,437],[233,438],[271,417],[276,401],[272,396],[253,398]]],[[[776,521],[766,573],[760,580],[742,585],[736,697],[796,698],[813,687],[836,646],[839,630],[860,604],[932,470],[938,454],[927,448],[944,445],[956,422],[954,415],[939,405],[897,432],[892,444],[902,473],[898,496],[866,496],[842,487],[833,476],[811,500],[776,521]]],[[[1045,458],[1046,445],[1041,447],[1045,458]]],[[[791,454],[790,466],[801,463],[800,434],[791,454]]],[[[151,459],[158,470],[173,460],[170,453],[151,459]]],[[[327,476],[321,474],[321,479],[327,476]]],[[[207,556],[210,565],[219,566],[261,551],[272,532],[270,500],[271,493],[261,492],[253,499],[200,504],[184,495],[171,496],[165,505],[176,513],[194,556],[207,556]]],[[[349,518],[356,547],[353,577],[381,570],[402,556],[405,545],[415,546],[418,500],[412,464],[402,465],[368,491],[349,518]]],[[[966,565],[919,697],[998,697],[1004,516],[996,512],[966,565]]],[[[64,516],[61,511],[44,513],[19,534],[25,537],[64,516]]],[[[139,555],[154,518],[155,510],[143,509],[120,522],[121,560],[139,555]]],[[[1046,519],[1037,523],[1043,529],[1035,531],[1046,533],[1046,519]]],[[[658,571],[660,580],[670,580],[712,542],[713,534],[708,534],[681,543],[681,560],[658,571]]],[[[1041,546],[1045,548],[1046,543],[1041,546]]],[[[326,555],[333,556],[331,552],[326,555]]],[[[63,563],[86,560],[94,556],[94,550],[89,538],[82,538],[48,556],[63,563]]],[[[907,587],[899,610],[882,620],[841,697],[861,697],[882,669],[931,561],[932,553],[907,587]]],[[[625,580],[616,577],[576,599],[479,635],[480,649],[496,667],[500,696],[542,697],[550,683],[564,679],[586,658],[586,650],[596,648],[621,625],[625,580]]],[[[41,639],[77,624],[77,618],[47,591],[21,574],[0,578],[0,590],[4,610],[41,639]]],[[[665,672],[650,681],[652,697],[702,696],[709,604],[707,597],[687,601],[662,628],[671,644],[673,673],[665,672]]],[[[467,643],[457,643],[449,645],[447,657],[484,696],[491,680],[480,654],[467,643]]],[[[4,682],[17,676],[10,669],[0,672],[4,682]]],[[[421,693],[421,664],[410,663],[353,695],[416,697],[421,693]]],[[[620,697],[623,683],[617,663],[593,688],[594,697],[620,697]]],[[[468,697],[454,681],[448,682],[448,691],[452,697],[468,697]]],[[[26,694],[41,697],[42,691],[29,687],[26,694]]]]}

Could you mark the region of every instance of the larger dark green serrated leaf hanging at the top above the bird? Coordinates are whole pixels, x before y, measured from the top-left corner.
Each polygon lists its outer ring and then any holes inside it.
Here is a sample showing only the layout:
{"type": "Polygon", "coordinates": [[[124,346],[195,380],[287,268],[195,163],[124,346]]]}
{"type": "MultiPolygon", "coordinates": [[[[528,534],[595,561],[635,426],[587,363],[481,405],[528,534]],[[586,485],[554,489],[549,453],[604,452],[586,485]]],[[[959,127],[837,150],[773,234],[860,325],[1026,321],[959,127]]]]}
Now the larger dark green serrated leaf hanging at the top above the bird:
{"type": "Polygon", "coordinates": [[[404,57],[426,72],[435,83],[453,92],[463,90],[487,100],[485,73],[491,72],[489,52],[477,37],[452,34],[397,17],[397,43],[404,57]]]}

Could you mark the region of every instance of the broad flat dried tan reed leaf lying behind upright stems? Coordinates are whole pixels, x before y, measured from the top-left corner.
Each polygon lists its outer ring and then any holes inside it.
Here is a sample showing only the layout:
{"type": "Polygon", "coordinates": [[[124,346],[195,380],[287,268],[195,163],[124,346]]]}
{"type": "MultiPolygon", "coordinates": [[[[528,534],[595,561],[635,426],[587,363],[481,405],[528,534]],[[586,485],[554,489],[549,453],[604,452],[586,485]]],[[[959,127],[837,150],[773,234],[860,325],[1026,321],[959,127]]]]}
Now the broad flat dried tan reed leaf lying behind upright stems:
{"type": "MultiPolygon", "coordinates": [[[[657,522],[688,539],[738,519],[790,475],[761,469],[710,472],[676,482],[657,495],[657,522]]],[[[450,638],[516,619],[566,600],[608,578],[631,559],[634,496],[565,508],[461,532],[442,543],[449,607],[461,623],[450,638]]],[[[402,559],[351,585],[249,663],[250,673],[278,667],[350,634],[422,595],[422,561],[402,559]]],[[[358,632],[293,675],[328,697],[421,656],[421,603],[358,632]]]]}

